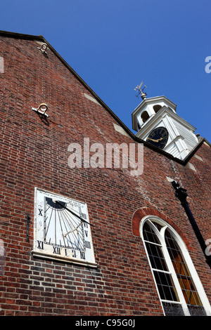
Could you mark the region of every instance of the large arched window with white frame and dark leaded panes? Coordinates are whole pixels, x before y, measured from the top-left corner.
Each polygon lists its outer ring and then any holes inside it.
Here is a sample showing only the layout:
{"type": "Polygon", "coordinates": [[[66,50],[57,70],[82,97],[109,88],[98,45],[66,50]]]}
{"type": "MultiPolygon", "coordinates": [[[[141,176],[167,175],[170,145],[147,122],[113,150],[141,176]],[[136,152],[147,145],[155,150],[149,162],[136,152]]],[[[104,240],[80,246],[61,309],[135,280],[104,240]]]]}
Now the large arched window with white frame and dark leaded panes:
{"type": "Polygon", "coordinates": [[[165,315],[210,315],[210,303],[177,232],[150,217],[141,223],[141,236],[165,315]]]}

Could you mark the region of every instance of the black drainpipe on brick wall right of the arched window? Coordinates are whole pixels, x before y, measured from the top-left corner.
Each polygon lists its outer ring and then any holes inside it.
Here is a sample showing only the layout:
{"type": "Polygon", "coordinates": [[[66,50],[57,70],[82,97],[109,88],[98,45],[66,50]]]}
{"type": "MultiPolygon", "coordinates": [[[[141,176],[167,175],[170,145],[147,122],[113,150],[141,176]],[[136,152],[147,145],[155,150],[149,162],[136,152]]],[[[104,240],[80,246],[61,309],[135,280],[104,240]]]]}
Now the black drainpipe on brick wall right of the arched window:
{"type": "Polygon", "coordinates": [[[187,190],[182,187],[179,187],[179,183],[177,183],[176,181],[172,181],[172,186],[174,187],[175,190],[175,196],[179,199],[179,201],[181,202],[181,206],[183,206],[184,210],[186,211],[186,215],[188,216],[191,226],[193,227],[193,231],[195,232],[200,247],[204,253],[206,263],[211,268],[211,255],[209,254],[207,256],[207,253],[205,253],[205,250],[207,249],[207,245],[205,244],[205,241],[200,233],[196,220],[193,218],[193,214],[191,213],[191,210],[188,206],[188,202],[186,201],[186,197],[188,197],[188,194],[186,192],[187,190]]]}

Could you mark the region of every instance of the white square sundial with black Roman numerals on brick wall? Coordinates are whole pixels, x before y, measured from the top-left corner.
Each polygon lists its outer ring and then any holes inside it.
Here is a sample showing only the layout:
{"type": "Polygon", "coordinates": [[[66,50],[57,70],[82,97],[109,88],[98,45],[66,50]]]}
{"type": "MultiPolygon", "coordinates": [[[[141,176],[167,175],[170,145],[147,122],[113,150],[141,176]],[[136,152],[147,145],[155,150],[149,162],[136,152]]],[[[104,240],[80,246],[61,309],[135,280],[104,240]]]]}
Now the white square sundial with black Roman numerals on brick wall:
{"type": "Polygon", "coordinates": [[[96,267],[87,204],[35,188],[32,254],[96,267]]]}

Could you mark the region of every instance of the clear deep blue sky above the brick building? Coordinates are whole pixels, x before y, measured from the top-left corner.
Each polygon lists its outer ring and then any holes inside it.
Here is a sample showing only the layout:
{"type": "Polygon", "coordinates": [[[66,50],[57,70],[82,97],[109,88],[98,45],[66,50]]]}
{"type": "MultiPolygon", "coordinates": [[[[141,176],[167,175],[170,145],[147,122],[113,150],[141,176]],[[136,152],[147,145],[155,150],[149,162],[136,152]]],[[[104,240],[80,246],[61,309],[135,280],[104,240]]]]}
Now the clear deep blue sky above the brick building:
{"type": "Polygon", "coordinates": [[[42,34],[131,131],[143,81],[211,143],[210,21],[210,0],[7,0],[0,29],[42,34]]]}

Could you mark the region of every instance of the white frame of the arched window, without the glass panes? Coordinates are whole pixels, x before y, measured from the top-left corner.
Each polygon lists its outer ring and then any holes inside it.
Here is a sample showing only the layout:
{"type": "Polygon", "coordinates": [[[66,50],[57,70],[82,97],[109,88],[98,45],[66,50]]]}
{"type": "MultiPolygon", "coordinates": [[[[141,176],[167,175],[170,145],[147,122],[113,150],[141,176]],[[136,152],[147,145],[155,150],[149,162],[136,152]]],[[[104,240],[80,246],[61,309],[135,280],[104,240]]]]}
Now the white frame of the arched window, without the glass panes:
{"type": "MultiPolygon", "coordinates": [[[[179,296],[179,302],[178,303],[181,304],[181,307],[184,310],[184,315],[190,316],[190,313],[188,311],[188,306],[186,305],[184,295],[181,291],[181,286],[179,285],[179,281],[177,279],[177,275],[176,275],[176,272],[174,270],[174,266],[172,265],[172,260],[170,259],[170,255],[167,251],[167,246],[165,244],[165,235],[164,234],[165,234],[165,229],[167,227],[171,231],[172,236],[174,237],[177,244],[179,245],[179,248],[181,249],[181,252],[184,256],[184,260],[186,261],[186,265],[188,266],[188,270],[190,271],[191,277],[192,277],[193,282],[196,286],[196,290],[198,291],[200,301],[203,304],[203,308],[205,309],[205,312],[206,312],[207,316],[208,315],[210,316],[211,315],[211,306],[210,306],[210,303],[207,299],[205,290],[203,289],[203,285],[201,284],[200,279],[198,277],[198,273],[196,272],[196,268],[193,265],[193,261],[191,260],[191,257],[188,253],[188,249],[186,248],[186,244],[184,244],[184,241],[178,235],[177,231],[174,230],[174,228],[171,225],[169,225],[167,222],[165,222],[164,220],[162,220],[158,216],[146,216],[141,220],[141,223],[140,223],[140,236],[141,236],[141,239],[143,240],[143,245],[144,245],[144,248],[145,248],[145,251],[146,251],[146,256],[148,258],[148,263],[149,263],[150,267],[151,267],[151,260],[148,256],[148,251],[146,249],[145,239],[143,238],[143,225],[144,225],[144,223],[146,223],[147,220],[151,220],[151,223],[156,222],[156,223],[159,223],[160,225],[163,226],[162,229],[159,232],[157,227],[155,227],[155,225],[153,225],[153,230],[155,231],[155,234],[158,236],[158,239],[160,240],[160,243],[162,245],[163,255],[165,257],[167,267],[170,270],[170,273],[172,275],[172,279],[174,281],[175,289],[177,289],[177,294],[179,296]]],[[[157,283],[156,283],[156,279],[155,279],[153,270],[154,269],[151,267],[151,272],[153,274],[153,279],[155,281],[155,286],[156,286],[156,289],[158,291],[158,286],[157,286],[157,283]]],[[[158,291],[158,296],[160,298],[159,291],[158,291]]],[[[166,301],[166,300],[163,300],[163,299],[160,298],[161,305],[162,305],[162,301],[166,302],[166,303],[177,303],[175,301],[166,301]]],[[[163,310],[163,313],[165,315],[165,311],[164,311],[163,308],[162,308],[162,310],[163,310]]]]}

